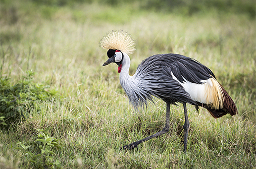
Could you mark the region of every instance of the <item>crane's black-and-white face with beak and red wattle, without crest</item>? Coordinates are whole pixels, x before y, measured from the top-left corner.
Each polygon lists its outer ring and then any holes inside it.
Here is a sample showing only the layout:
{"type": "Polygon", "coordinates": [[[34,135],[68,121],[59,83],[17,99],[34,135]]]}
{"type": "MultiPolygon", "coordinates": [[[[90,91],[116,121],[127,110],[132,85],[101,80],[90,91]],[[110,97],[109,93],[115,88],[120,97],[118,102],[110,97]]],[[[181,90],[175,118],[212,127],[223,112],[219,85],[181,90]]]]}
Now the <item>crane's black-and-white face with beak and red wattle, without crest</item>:
{"type": "Polygon", "coordinates": [[[120,50],[109,49],[107,52],[109,59],[103,64],[103,66],[109,65],[111,63],[116,63],[118,65],[118,73],[122,70],[122,60],[124,54],[120,50]]]}

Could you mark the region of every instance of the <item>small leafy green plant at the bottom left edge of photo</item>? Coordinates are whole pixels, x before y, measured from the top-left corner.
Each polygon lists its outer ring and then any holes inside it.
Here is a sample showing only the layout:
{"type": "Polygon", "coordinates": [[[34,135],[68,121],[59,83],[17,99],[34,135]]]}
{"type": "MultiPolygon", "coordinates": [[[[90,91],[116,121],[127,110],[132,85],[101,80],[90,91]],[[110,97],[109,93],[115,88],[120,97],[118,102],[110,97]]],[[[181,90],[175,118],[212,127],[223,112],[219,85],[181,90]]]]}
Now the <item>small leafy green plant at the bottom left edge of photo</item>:
{"type": "Polygon", "coordinates": [[[61,168],[60,161],[53,157],[54,151],[60,148],[58,140],[42,132],[37,138],[31,145],[19,143],[17,149],[22,151],[22,163],[29,161],[28,166],[35,168],[61,168]]]}

